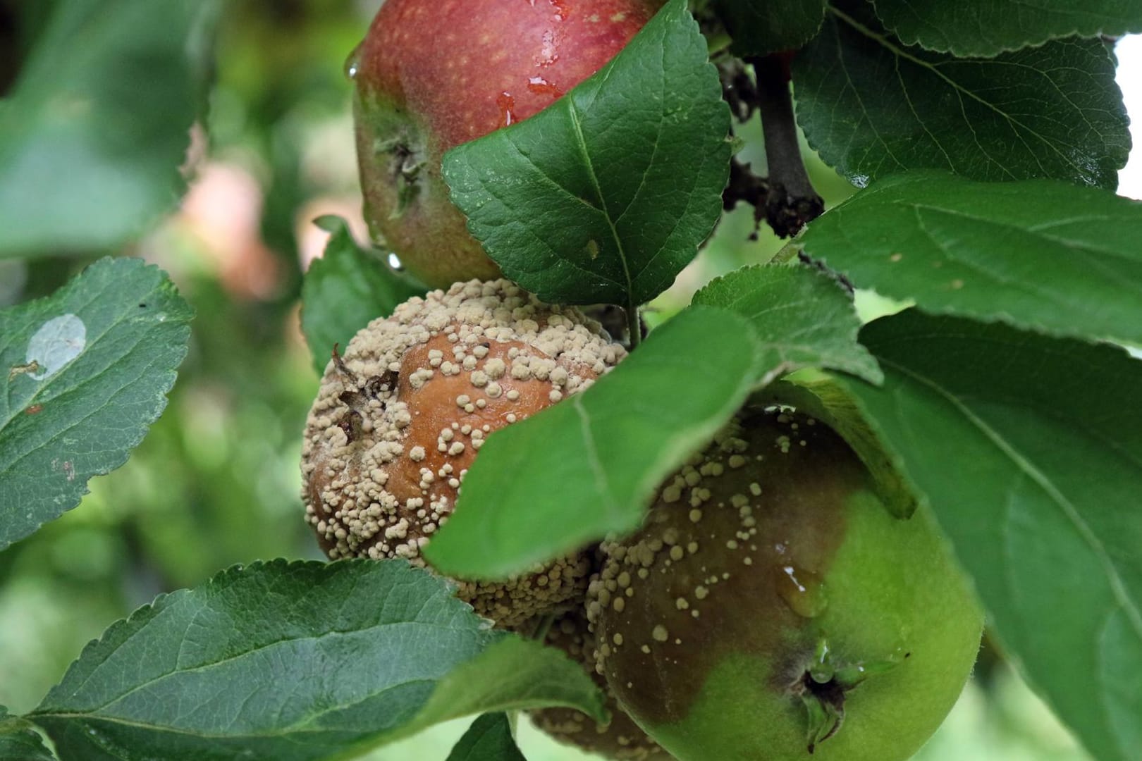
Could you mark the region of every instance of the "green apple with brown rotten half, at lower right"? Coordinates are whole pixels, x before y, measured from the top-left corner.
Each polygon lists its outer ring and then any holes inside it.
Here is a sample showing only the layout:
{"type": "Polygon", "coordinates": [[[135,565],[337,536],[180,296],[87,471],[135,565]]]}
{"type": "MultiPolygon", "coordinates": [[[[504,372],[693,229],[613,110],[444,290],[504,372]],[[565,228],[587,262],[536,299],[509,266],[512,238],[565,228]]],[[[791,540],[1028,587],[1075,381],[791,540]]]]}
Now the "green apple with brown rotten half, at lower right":
{"type": "Polygon", "coordinates": [[[903,761],[979,649],[980,608],[932,517],[890,515],[841,437],[804,416],[743,420],[603,549],[598,666],[678,761],[903,761]],[[844,689],[856,666],[868,675],[844,689]],[[842,705],[831,736],[826,722],[811,737],[810,703],[842,705]]]}

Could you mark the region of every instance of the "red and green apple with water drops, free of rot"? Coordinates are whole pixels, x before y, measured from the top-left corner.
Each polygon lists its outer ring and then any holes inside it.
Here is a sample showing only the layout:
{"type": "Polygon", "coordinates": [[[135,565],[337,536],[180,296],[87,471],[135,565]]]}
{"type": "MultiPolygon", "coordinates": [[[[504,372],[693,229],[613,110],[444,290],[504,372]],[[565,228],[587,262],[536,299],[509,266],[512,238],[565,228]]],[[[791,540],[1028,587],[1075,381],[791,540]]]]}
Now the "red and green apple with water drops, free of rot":
{"type": "Polygon", "coordinates": [[[364,212],[433,288],[499,268],[449,200],[449,148],[531,116],[606,64],[659,0],[387,0],[349,60],[364,212]]]}

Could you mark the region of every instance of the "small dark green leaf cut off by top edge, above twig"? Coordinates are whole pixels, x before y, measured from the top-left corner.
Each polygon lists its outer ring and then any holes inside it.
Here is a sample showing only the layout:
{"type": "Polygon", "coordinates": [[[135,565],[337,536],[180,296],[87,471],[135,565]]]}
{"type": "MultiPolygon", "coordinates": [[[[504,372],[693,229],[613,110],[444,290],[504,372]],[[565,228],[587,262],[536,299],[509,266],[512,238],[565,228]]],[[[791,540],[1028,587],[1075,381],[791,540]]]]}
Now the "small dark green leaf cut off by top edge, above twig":
{"type": "Polygon", "coordinates": [[[717,0],[718,16],[739,56],[764,56],[805,44],[821,30],[826,0],[717,0]]]}

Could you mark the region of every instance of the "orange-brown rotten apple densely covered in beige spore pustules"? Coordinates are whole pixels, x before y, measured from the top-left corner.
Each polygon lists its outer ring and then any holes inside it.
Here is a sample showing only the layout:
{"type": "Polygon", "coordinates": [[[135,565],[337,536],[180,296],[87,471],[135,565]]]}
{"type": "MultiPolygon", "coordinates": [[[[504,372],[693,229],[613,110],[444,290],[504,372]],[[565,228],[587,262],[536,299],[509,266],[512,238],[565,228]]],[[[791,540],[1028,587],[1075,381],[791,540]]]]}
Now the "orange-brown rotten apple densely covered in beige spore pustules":
{"type": "MultiPolygon", "coordinates": [[[[325,369],[301,454],[306,518],[330,558],[407,558],[451,515],[494,430],[588,388],[624,349],[571,307],[508,281],[457,283],[372,321],[325,369]]],[[[569,556],[458,594],[502,626],[579,604],[569,556]]]]}

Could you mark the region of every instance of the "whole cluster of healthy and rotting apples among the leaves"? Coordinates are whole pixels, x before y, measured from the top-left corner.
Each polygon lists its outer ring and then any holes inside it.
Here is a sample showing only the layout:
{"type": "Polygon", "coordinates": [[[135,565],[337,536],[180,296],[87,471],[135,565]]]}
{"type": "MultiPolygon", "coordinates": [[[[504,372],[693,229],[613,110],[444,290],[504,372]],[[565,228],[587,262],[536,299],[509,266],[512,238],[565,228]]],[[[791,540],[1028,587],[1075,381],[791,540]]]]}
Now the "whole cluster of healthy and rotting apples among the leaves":
{"type": "MultiPolygon", "coordinates": [[[[365,214],[441,290],[373,321],[325,370],[303,496],[330,557],[423,564],[483,440],[626,355],[580,310],[499,278],[441,157],[553,103],[658,5],[381,7],[351,64],[365,214]]],[[[694,453],[634,535],[458,593],[497,625],[546,630],[606,691],[609,724],[545,710],[541,728],[643,761],[903,761],[950,710],[982,625],[927,511],[890,513],[836,432],[772,407],[743,408],[694,453]]]]}

